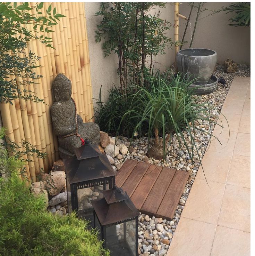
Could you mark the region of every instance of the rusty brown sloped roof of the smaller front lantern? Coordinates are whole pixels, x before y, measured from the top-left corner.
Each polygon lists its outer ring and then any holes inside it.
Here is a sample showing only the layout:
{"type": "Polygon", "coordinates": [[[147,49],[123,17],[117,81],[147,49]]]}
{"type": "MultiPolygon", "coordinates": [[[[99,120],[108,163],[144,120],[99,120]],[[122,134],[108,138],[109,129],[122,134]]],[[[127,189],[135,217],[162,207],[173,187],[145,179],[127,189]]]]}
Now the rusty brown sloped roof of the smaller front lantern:
{"type": "MultiPolygon", "coordinates": [[[[114,198],[114,194],[116,198],[120,196],[118,194],[120,192],[119,191],[117,192],[116,188],[113,188],[110,190],[108,190],[109,191],[108,193],[107,191],[104,191],[105,193],[103,193],[104,197],[102,199],[93,200],[91,202],[94,207],[97,218],[102,226],[123,222],[128,219],[133,219],[139,216],[139,211],[136,209],[134,203],[128,197],[127,192],[125,192],[125,199],[123,201],[107,203],[107,200],[105,199],[105,194],[107,196],[111,195],[110,201],[111,199],[114,198]],[[113,191],[110,191],[110,190],[113,190],[113,191]]],[[[123,190],[121,189],[121,191],[123,190]]],[[[121,194],[121,197],[124,197],[124,195],[121,194]]]]}

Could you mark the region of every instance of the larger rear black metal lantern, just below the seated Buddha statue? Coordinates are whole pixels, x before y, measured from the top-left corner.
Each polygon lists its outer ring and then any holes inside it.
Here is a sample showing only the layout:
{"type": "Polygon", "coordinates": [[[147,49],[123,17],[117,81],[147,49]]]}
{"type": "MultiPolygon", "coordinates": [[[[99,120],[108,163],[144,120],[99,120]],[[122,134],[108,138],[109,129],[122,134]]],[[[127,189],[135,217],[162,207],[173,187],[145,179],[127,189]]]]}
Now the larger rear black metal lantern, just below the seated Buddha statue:
{"type": "Polygon", "coordinates": [[[75,150],[75,156],[63,160],[66,169],[67,205],[69,213],[92,221],[92,201],[103,198],[103,190],[111,189],[115,173],[107,156],[88,141],[75,150]]]}

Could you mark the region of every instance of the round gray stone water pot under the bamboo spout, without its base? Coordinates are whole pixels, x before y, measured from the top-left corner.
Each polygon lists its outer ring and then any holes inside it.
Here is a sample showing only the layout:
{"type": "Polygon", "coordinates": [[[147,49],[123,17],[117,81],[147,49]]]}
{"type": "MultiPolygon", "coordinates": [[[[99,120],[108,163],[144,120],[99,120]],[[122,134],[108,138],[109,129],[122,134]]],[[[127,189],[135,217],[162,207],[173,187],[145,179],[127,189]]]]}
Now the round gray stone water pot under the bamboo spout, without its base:
{"type": "Polygon", "coordinates": [[[184,49],[176,55],[178,71],[183,75],[187,74],[189,79],[210,79],[216,62],[216,51],[209,49],[184,49]]]}

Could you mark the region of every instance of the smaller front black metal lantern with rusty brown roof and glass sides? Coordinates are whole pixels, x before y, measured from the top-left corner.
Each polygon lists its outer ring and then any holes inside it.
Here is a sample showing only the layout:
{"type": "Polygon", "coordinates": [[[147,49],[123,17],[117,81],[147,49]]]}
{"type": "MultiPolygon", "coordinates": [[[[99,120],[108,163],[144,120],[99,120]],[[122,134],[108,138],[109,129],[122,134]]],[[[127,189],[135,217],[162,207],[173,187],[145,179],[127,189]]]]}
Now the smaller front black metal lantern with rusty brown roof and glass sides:
{"type": "Polygon", "coordinates": [[[137,256],[139,211],[127,193],[115,184],[103,191],[103,195],[92,202],[94,227],[99,227],[103,246],[111,251],[111,256],[137,256]]]}

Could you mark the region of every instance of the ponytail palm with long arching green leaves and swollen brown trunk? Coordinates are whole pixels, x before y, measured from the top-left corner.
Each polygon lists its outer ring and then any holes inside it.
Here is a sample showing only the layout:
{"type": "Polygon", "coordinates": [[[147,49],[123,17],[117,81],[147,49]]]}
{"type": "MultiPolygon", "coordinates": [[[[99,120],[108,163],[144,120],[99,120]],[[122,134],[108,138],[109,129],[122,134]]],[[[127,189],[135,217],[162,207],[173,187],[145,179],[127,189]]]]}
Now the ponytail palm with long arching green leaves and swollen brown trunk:
{"type": "Polygon", "coordinates": [[[133,134],[147,135],[149,140],[151,136],[155,138],[147,155],[156,159],[165,159],[167,145],[176,134],[179,144],[184,142],[192,158],[193,150],[197,150],[194,147],[194,134],[198,130],[195,123],[205,121],[209,129],[203,132],[210,135],[211,126],[215,124],[210,119],[210,103],[199,103],[194,96],[195,88],[189,87],[194,81],[182,79],[180,74],[171,81],[160,75],[146,80],[147,87],[134,85],[130,88],[134,92],[132,96],[127,95],[130,107],[123,113],[117,133],[121,133],[122,122],[136,123],[133,134]],[[190,142],[185,141],[183,131],[190,134],[190,142]]]}

